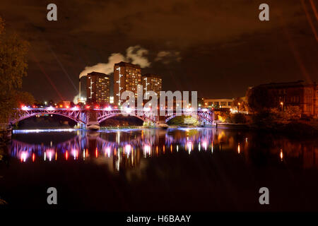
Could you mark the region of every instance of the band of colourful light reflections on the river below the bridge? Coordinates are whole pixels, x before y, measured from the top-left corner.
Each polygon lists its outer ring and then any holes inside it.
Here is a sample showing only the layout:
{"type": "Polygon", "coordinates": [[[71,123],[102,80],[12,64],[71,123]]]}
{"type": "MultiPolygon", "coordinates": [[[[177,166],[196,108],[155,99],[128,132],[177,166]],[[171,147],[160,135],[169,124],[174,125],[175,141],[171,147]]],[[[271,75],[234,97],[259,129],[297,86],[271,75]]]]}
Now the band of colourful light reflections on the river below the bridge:
{"type": "Polygon", "coordinates": [[[104,161],[114,171],[120,171],[138,167],[142,159],[149,157],[182,152],[190,156],[193,152],[205,152],[213,157],[216,151],[230,151],[244,157],[247,164],[257,162],[255,153],[259,152],[261,157],[270,161],[277,160],[282,164],[296,162],[298,167],[318,168],[317,145],[225,129],[32,130],[16,131],[14,134],[11,156],[21,163],[93,160],[104,161]],[[59,141],[66,134],[71,138],[59,141]],[[27,135],[25,141],[24,136],[27,135]],[[39,141],[42,138],[48,140],[39,141]]]}

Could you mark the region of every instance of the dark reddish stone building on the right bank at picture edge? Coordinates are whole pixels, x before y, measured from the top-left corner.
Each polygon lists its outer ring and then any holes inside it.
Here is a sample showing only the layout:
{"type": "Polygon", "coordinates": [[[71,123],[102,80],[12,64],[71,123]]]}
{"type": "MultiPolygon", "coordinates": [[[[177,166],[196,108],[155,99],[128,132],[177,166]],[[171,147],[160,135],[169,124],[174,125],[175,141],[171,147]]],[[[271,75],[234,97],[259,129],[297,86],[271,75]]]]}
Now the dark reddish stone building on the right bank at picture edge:
{"type": "Polygon", "coordinates": [[[298,106],[302,114],[318,116],[318,90],[316,83],[296,81],[289,83],[261,84],[268,88],[276,98],[278,105],[298,106]]]}

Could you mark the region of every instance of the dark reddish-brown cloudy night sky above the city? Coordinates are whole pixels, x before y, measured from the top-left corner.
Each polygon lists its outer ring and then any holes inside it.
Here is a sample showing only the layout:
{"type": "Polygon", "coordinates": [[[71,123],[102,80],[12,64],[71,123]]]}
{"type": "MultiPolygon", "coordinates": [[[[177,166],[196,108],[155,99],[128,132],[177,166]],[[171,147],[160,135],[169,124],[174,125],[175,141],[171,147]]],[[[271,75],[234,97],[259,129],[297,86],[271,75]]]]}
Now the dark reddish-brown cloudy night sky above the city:
{"type": "Polygon", "coordinates": [[[218,98],[260,83],[318,82],[311,3],[318,10],[317,0],[1,0],[0,16],[6,32],[30,42],[23,90],[37,100],[73,100],[81,71],[112,54],[162,76],[163,90],[218,98]],[[47,20],[49,3],[57,21],[47,20]],[[259,20],[262,3],[269,21],[259,20]]]}

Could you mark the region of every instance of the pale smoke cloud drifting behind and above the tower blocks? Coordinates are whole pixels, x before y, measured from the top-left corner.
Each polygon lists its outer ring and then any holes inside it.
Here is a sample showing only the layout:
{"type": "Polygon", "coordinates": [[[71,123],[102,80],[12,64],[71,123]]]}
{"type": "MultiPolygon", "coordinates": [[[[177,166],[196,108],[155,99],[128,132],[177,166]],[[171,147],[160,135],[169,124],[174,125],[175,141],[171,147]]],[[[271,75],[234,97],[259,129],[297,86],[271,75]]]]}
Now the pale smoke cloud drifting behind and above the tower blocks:
{"type": "Polygon", "coordinates": [[[94,66],[86,66],[80,73],[79,78],[87,76],[88,73],[96,71],[100,73],[110,74],[114,72],[114,64],[120,61],[130,62],[131,64],[139,64],[141,68],[146,68],[151,65],[148,58],[144,55],[148,54],[147,49],[141,48],[139,45],[128,47],[126,49],[126,57],[120,53],[113,53],[108,57],[108,63],[98,63],[94,66]]]}

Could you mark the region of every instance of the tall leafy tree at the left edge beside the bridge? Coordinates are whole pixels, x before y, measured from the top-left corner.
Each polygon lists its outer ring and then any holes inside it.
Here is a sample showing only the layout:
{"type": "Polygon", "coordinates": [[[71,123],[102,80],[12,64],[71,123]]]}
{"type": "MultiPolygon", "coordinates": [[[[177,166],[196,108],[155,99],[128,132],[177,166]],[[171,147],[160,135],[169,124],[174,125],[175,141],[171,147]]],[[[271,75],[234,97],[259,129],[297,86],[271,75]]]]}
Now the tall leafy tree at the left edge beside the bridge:
{"type": "Polygon", "coordinates": [[[32,95],[19,91],[23,76],[27,75],[28,46],[18,35],[6,35],[4,20],[0,18],[0,122],[8,122],[23,101],[33,104],[32,95]]]}

